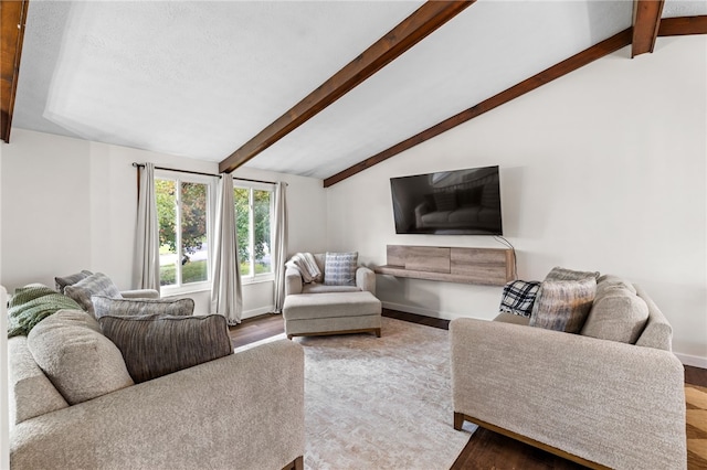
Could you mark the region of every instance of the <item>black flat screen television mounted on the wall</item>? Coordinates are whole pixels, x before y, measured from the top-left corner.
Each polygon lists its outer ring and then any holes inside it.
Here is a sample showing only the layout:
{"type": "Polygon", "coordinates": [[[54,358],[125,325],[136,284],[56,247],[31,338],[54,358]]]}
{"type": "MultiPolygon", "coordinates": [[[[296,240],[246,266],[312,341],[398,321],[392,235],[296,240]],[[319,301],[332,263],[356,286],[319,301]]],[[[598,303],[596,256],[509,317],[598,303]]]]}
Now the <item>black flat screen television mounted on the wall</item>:
{"type": "Polygon", "coordinates": [[[390,179],[397,234],[503,235],[498,167],[390,179]]]}

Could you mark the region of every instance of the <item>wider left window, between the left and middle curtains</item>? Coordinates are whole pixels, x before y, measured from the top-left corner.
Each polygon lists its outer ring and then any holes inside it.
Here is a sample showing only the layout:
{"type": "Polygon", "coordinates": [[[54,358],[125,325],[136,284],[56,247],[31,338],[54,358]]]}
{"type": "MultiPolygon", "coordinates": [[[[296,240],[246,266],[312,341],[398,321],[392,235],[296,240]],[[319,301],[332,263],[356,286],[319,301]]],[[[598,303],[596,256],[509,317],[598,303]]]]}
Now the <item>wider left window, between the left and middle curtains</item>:
{"type": "Polygon", "coordinates": [[[160,286],[167,288],[208,288],[210,258],[209,179],[155,178],[155,197],[159,221],[160,286]]]}

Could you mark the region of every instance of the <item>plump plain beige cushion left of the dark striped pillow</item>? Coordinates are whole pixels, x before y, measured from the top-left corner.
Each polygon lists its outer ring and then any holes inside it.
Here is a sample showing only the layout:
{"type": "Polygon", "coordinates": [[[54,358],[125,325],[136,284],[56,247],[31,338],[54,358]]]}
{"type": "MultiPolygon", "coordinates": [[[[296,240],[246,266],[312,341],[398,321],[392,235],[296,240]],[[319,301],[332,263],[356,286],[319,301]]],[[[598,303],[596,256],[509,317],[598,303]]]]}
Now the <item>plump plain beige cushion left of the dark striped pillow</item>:
{"type": "Polygon", "coordinates": [[[84,311],[60,310],[27,340],[36,364],[71,405],[133,385],[120,351],[84,311]]]}

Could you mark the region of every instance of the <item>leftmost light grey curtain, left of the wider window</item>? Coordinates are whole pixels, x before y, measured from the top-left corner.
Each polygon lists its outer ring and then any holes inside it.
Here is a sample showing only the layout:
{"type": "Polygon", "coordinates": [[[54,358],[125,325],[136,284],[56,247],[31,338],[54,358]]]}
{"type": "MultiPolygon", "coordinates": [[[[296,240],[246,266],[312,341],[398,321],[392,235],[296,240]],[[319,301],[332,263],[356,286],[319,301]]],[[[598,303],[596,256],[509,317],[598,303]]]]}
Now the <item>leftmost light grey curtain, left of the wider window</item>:
{"type": "Polygon", "coordinates": [[[159,291],[159,223],[155,200],[155,164],[138,167],[140,184],[133,281],[137,289],[159,291]]]}

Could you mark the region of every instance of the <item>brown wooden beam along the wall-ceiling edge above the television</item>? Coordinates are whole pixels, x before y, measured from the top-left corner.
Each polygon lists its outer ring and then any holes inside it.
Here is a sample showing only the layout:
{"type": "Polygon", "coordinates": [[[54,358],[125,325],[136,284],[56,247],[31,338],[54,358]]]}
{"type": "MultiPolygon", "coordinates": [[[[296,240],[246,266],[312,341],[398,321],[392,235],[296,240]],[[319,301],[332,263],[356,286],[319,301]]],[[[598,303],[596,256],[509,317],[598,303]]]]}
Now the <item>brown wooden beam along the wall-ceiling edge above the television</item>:
{"type": "Polygon", "coordinates": [[[394,145],[393,147],[387,150],[383,150],[378,154],[374,154],[373,157],[370,157],[333,177],[327,178],[326,180],[324,180],[324,186],[329,188],[338,183],[339,181],[342,181],[349,177],[352,177],[354,174],[357,174],[368,168],[371,168],[374,164],[378,164],[384,160],[388,160],[389,158],[404,150],[408,150],[419,143],[422,143],[425,140],[430,140],[442,132],[446,132],[453,127],[456,127],[463,122],[466,122],[467,120],[471,120],[477,116],[483,115],[486,111],[497,108],[498,106],[502,106],[519,96],[523,96],[526,93],[529,93],[536,88],[539,88],[546,83],[552,82],[556,78],[567,75],[570,72],[573,72],[591,62],[594,62],[598,58],[601,58],[605,55],[611,54],[612,52],[619,51],[620,49],[631,44],[631,39],[632,39],[632,31],[631,31],[631,28],[629,28],[627,30],[624,30],[619,34],[615,34],[609,38],[608,40],[602,41],[599,44],[593,45],[580,52],[579,54],[576,54],[560,62],[559,64],[556,64],[550,68],[547,68],[546,71],[540,72],[539,74],[534,75],[532,77],[524,82],[520,82],[519,84],[514,85],[510,88],[504,92],[500,92],[499,94],[492,96],[490,98],[475,106],[472,106],[471,108],[455,116],[452,116],[451,118],[447,118],[442,122],[426,130],[423,130],[422,132],[407,140],[403,140],[398,145],[394,145]]]}

